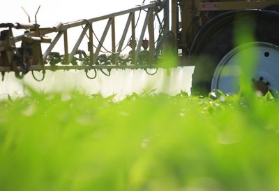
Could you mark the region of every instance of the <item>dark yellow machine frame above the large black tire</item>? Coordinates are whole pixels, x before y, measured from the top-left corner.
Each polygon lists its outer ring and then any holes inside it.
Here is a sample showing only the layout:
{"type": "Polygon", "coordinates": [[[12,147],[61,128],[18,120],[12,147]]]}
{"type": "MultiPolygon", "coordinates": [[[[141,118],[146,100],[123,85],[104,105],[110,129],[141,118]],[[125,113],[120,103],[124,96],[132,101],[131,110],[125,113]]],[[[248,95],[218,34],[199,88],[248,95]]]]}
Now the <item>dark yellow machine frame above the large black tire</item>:
{"type": "MultiPolygon", "coordinates": [[[[183,50],[183,56],[187,56],[187,49],[190,48],[190,43],[193,42],[197,35],[197,30],[193,26],[193,20],[202,12],[211,11],[228,11],[228,10],[243,10],[243,9],[264,9],[268,6],[278,4],[274,0],[262,1],[206,1],[206,0],[172,0],[172,31],[176,36],[181,28],[181,42],[177,44],[178,48],[183,50]],[[180,10],[180,11],[179,11],[180,10]],[[179,12],[181,14],[181,22],[179,20],[179,12]]],[[[203,20],[199,21],[199,25],[204,24],[203,20]]]]}

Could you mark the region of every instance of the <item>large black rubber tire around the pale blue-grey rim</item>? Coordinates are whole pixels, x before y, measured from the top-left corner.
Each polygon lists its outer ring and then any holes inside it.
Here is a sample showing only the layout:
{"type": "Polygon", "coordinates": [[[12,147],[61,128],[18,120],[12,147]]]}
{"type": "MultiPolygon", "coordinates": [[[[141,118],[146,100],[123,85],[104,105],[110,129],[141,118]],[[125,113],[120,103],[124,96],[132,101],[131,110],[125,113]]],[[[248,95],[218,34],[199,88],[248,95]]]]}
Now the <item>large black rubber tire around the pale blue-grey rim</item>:
{"type": "MultiPolygon", "coordinates": [[[[190,62],[195,64],[192,94],[211,92],[211,80],[216,66],[227,53],[236,47],[234,32],[239,23],[253,29],[255,41],[279,45],[279,15],[268,10],[241,10],[219,15],[207,23],[195,38],[190,49],[190,62]]],[[[251,38],[241,43],[251,43],[251,38]]],[[[239,44],[241,45],[241,44],[239,44]]]]}

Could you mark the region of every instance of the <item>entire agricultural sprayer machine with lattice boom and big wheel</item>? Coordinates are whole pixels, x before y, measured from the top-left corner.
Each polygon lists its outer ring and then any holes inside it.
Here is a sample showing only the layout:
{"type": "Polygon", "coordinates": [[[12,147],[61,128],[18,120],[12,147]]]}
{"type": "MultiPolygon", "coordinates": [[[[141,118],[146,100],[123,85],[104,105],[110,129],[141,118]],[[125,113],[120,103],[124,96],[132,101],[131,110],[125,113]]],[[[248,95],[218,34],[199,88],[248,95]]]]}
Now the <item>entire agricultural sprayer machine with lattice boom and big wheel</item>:
{"type": "Polygon", "coordinates": [[[84,70],[93,79],[98,70],[110,76],[112,69],[144,69],[152,75],[159,67],[195,66],[192,92],[205,94],[215,89],[239,91],[239,76],[246,75],[239,66],[252,63],[251,84],[262,94],[275,93],[279,90],[278,11],[278,1],[269,0],[158,0],[101,17],[59,22],[54,27],[40,27],[37,20],[30,19],[27,24],[2,23],[0,71],[3,78],[10,71],[17,78],[42,71],[44,78],[47,70],[84,70]],[[116,17],[123,15],[127,19],[116,43],[116,17]],[[139,20],[143,21],[141,26],[139,20]],[[100,21],[106,24],[97,36],[94,24],[100,21]],[[158,31],[154,22],[160,26],[158,31]],[[68,33],[75,27],[82,27],[82,31],[69,50],[68,33]],[[15,30],[22,30],[22,34],[14,36],[15,30]],[[107,36],[111,50],[104,45],[107,36]],[[63,53],[53,51],[58,41],[63,41],[63,53]],[[86,50],[80,49],[84,41],[86,50]],[[130,48],[128,54],[121,55],[126,48],[130,48]],[[164,56],[174,55],[177,63],[160,64],[164,56]],[[93,71],[92,76],[89,71],[93,71]]]}

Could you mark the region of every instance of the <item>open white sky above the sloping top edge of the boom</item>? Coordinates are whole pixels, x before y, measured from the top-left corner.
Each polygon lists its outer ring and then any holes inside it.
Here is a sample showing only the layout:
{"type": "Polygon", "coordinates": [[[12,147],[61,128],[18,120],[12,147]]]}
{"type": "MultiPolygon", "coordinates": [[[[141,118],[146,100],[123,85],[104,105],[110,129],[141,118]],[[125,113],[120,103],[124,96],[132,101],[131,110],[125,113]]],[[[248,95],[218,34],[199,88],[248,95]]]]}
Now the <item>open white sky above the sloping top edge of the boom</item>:
{"type": "MultiPolygon", "coordinates": [[[[133,8],[143,0],[9,0],[3,3],[0,11],[0,22],[27,22],[22,6],[33,20],[38,6],[38,23],[52,27],[56,22],[70,22],[89,19],[117,10],[133,8]]],[[[148,0],[146,2],[149,2],[148,0]]]]}

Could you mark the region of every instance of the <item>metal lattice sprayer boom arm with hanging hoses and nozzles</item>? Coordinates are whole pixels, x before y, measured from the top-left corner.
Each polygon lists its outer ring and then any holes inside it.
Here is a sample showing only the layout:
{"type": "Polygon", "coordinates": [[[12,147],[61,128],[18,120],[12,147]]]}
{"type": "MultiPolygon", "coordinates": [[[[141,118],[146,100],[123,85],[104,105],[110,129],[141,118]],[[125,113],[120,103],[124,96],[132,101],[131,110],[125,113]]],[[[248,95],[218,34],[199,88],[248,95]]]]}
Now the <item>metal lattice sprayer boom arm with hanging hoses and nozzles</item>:
{"type": "MultiPolygon", "coordinates": [[[[168,17],[164,17],[161,21],[158,17],[158,12],[166,8],[167,4],[162,1],[152,1],[151,3],[142,4],[135,8],[128,10],[119,11],[109,15],[101,17],[94,17],[91,19],[77,20],[75,22],[57,23],[54,27],[41,28],[39,24],[35,23],[2,23],[0,24],[0,72],[5,73],[6,71],[14,71],[16,76],[22,78],[25,73],[33,70],[59,70],[59,69],[142,69],[154,66],[154,55],[155,50],[155,39],[153,22],[157,17],[160,26],[163,26],[163,22],[168,17]],[[146,14],[143,13],[143,10],[146,14]],[[136,38],[135,17],[137,13],[137,21],[140,19],[140,15],[144,16],[144,23],[141,26],[142,30],[139,36],[136,38]],[[142,13],[142,14],[141,14],[142,13]],[[123,29],[123,35],[119,43],[116,45],[116,20],[115,17],[121,15],[128,15],[126,25],[123,29]],[[93,29],[93,23],[99,21],[106,21],[107,24],[103,31],[102,36],[96,36],[93,29]],[[75,27],[82,27],[79,38],[75,41],[73,49],[69,52],[68,50],[68,32],[69,29],[75,27]],[[128,29],[132,29],[130,37],[128,36],[128,29]],[[149,41],[147,48],[142,50],[142,44],[145,43],[144,34],[146,28],[149,32],[149,41]],[[14,30],[24,30],[24,34],[20,36],[13,36],[14,30]],[[111,30],[112,38],[112,50],[107,50],[104,45],[105,38],[108,35],[108,31],[111,30]],[[45,35],[55,34],[53,39],[47,38],[45,35]],[[52,52],[54,47],[57,46],[57,42],[63,36],[63,48],[64,52],[52,52]],[[94,38],[94,43],[93,43],[94,38]],[[87,41],[88,53],[84,50],[80,50],[82,41],[87,41]],[[127,44],[126,41],[129,41],[127,44]],[[16,46],[16,43],[21,42],[20,47],[16,46]],[[48,43],[45,52],[42,53],[41,43],[48,43]],[[94,45],[95,44],[95,45],[94,45]],[[125,46],[125,47],[123,47],[125,46]],[[132,49],[128,57],[119,57],[121,52],[130,46],[132,49]],[[105,51],[104,54],[100,52],[105,51]],[[107,54],[110,54],[107,56],[107,54]]],[[[165,10],[167,11],[167,10],[165,10]]],[[[159,38],[163,36],[163,29],[159,38]]],[[[160,39],[158,39],[159,41],[160,39]]],[[[72,39],[71,39],[72,41],[72,39]]],[[[146,46],[144,46],[146,47],[146,46]]]]}

